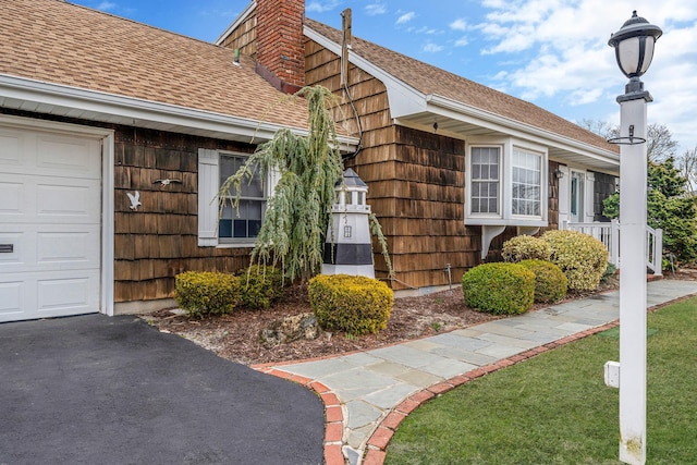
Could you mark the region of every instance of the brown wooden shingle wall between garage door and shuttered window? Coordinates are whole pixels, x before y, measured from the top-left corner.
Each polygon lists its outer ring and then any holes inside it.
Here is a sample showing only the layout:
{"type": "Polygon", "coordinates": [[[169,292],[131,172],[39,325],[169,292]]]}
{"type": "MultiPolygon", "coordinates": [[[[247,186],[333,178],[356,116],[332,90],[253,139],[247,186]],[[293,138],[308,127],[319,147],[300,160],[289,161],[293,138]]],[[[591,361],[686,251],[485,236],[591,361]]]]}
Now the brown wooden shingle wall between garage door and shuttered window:
{"type": "Polygon", "coordinates": [[[117,127],[114,137],[114,301],[171,297],[187,270],[235,272],[248,248],[198,247],[198,148],[252,152],[255,146],[117,127]],[[158,179],[181,180],[167,186],[158,179]],[[131,210],[126,192],[143,204],[131,210]]]}

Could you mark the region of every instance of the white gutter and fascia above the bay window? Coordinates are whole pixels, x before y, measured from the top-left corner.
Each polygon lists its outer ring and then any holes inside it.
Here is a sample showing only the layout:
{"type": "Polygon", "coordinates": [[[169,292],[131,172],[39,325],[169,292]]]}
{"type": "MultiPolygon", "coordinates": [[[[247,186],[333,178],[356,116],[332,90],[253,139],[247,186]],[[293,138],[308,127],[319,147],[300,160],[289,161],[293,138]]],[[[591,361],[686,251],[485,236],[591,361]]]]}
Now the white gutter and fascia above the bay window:
{"type": "Polygon", "coordinates": [[[455,120],[477,124],[482,127],[508,133],[512,136],[530,139],[543,145],[573,151],[585,157],[614,163],[617,167],[620,166],[620,156],[617,154],[603,150],[571,137],[541,130],[435,94],[426,96],[426,101],[428,102],[428,111],[431,113],[443,114],[455,120]]]}

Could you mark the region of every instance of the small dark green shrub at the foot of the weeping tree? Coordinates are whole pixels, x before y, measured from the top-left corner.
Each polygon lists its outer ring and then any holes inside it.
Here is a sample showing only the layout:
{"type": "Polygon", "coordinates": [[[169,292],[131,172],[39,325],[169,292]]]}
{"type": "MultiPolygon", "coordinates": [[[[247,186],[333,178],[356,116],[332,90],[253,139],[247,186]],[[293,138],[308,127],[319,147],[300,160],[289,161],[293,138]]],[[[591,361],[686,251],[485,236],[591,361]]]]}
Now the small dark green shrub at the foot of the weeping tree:
{"type": "Polygon", "coordinates": [[[278,268],[254,265],[237,273],[240,301],[245,308],[269,308],[283,297],[283,273],[278,268]]]}

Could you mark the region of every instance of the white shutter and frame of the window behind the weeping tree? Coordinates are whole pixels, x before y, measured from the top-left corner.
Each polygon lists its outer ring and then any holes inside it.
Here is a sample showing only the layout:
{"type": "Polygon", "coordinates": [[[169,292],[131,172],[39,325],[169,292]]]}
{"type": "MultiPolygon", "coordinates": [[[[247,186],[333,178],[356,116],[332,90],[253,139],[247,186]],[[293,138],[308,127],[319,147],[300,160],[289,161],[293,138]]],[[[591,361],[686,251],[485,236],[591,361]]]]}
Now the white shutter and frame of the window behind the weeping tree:
{"type": "MultiPolygon", "coordinates": [[[[225,238],[220,241],[218,236],[218,189],[220,188],[220,156],[240,155],[248,157],[250,154],[198,149],[198,246],[219,248],[249,248],[254,246],[255,238],[225,238]]],[[[267,193],[272,193],[278,183],[279,173],[274,170],[269,173],[267,193]]],[[[267,194],[267,198],[270,194],[267,194]]]]}

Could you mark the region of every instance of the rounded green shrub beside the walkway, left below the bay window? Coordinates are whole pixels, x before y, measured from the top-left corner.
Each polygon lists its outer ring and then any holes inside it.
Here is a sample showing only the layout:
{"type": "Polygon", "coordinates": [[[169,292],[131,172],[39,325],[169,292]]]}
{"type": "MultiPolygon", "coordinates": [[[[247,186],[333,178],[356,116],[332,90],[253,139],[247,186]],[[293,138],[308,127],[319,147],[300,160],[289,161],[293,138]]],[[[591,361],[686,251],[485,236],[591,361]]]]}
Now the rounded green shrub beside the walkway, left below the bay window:
{"type": "Polygon", "coordinates": [[[468,307],[494,315],[524,314],[533,307],[535,273],[518,264],[484,264],[462,277],[468,307]]]}

